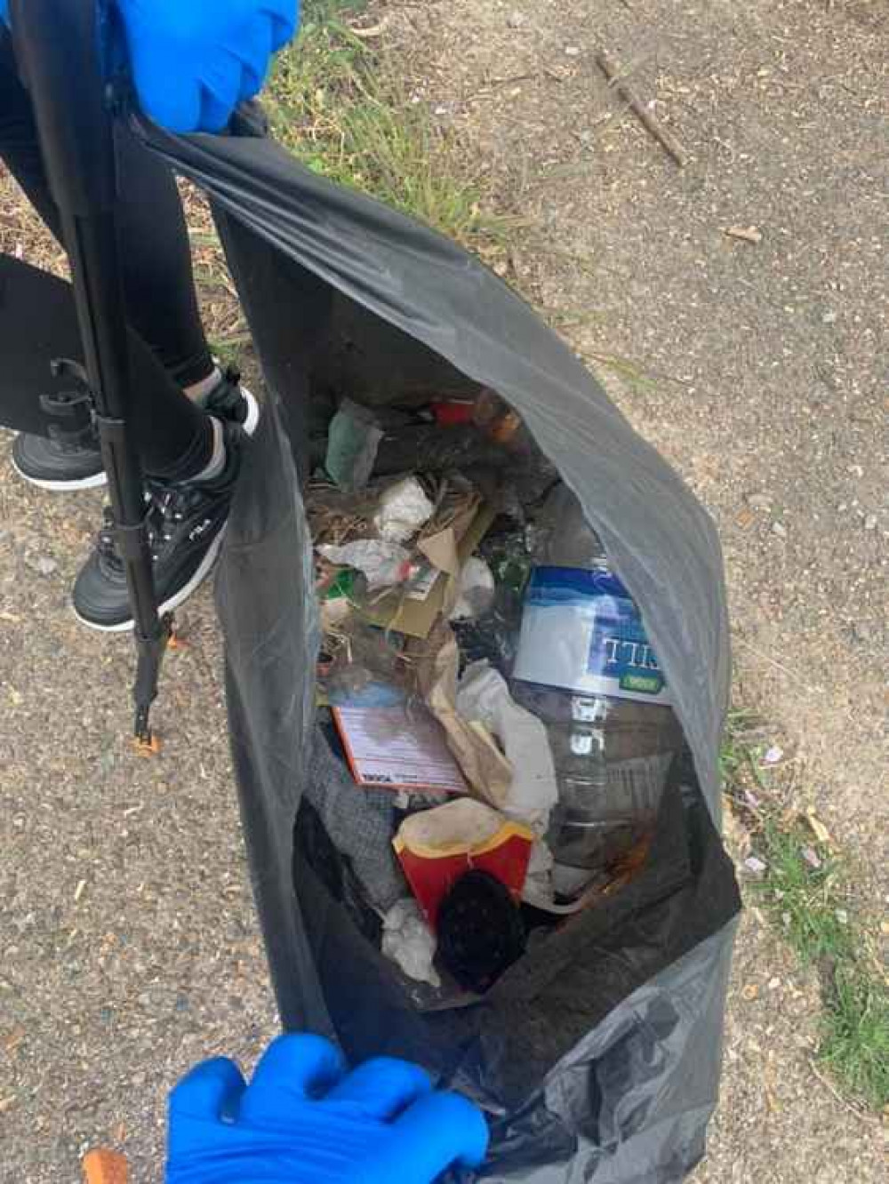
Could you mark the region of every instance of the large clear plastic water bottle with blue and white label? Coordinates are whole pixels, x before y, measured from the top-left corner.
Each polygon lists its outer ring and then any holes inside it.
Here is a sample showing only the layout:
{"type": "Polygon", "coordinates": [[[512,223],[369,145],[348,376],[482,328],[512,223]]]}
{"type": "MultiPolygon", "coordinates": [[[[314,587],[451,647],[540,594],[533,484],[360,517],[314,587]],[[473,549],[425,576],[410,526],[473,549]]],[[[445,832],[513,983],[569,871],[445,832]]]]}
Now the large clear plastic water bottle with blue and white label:
{"type": "Polygon", "coordinates": [[[639,610],[567,487],[547,500],[532,554],[513,695],[547,725],[556,864],[595,870],[651,829],[682,729],[639,610]]]}

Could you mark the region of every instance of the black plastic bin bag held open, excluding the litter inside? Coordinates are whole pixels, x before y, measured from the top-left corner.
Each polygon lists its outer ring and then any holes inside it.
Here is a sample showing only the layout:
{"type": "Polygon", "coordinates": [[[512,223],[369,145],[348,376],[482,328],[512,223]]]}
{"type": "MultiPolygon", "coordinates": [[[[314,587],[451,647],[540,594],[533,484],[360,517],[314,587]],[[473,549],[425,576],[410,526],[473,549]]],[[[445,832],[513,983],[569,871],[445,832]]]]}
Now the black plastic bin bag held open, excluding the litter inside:
{"type": "Polygon", "coordinates": [[[284,1025],[329,1034],[352,1060],[418,1061],[475,1098],[492,1130],[481,1179],[681,1180],[716,1103],[740,907],[719,836],[729,641],[710,519],[571,350],[460,247],[320,179],[246,124],[226,137],[141,134],[213,201],[266,391],[217,596],[250,871],[284,1025]],[[640,606],[688,741],[640,874],[471,1006],[412,1002],[360,924],[348,863],[309,800],[331,757],[315,721],[320,631],[301,478],[313,392],[331,382],[371,401],[483,385],[511,404],[640,606]]]}

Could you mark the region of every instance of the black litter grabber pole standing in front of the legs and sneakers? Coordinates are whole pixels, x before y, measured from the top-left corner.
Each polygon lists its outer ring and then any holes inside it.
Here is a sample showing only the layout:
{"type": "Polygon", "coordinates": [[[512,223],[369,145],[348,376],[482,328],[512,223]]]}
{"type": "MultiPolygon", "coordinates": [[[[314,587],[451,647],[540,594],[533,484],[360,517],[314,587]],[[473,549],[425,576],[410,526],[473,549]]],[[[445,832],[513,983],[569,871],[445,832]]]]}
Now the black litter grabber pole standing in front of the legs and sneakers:
{"type": "MultiPolygon", "coordinates": [[[[104,62],[111,37],[97,0],[11,0],[9,8],[15,58],[34,108],[71,265],[86,362],[83,377],[98,425],[135,620],[136,741],[150,749],[148,714],[172,623],[157,613],[142,468],[127,429],[129,352],[115,226],[111,88],[104,62]]],[[[77,369],[70,360],[56,365],[69,374],[77,369]]]]}

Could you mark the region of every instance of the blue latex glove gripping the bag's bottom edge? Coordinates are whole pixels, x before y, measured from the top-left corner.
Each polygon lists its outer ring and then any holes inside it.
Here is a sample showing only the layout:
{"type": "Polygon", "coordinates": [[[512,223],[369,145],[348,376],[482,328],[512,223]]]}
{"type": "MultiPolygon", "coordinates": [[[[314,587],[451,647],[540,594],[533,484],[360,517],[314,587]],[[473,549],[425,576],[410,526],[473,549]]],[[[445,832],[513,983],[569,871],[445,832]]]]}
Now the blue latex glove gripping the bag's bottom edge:
{"type": "Polygon", "coordinates": [[[430,1184],[488,1150],[481,1111],[380,1057],[349,1073],[320,1036],[281,1036],[245,1085],[205,1061],[169,1096],[167,1184],[430,1184]]]}

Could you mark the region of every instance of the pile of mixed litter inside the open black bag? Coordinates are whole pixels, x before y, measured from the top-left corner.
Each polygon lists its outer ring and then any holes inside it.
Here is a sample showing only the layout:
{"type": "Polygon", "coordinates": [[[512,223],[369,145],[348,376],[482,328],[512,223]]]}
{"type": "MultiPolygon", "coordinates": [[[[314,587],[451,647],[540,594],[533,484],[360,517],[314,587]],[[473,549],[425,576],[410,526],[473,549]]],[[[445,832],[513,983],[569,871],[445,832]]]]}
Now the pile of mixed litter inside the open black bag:
{"type": "Polygon", "coordinates": [[[313,455],[317,706],[348,768],[315,805],[405,980],[482,995],[637,875],[682,731],[636,605],[497,394],[343,399],[313,455]]]}

